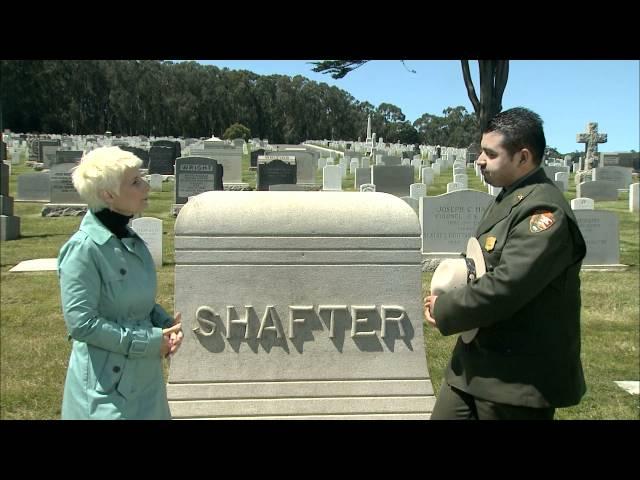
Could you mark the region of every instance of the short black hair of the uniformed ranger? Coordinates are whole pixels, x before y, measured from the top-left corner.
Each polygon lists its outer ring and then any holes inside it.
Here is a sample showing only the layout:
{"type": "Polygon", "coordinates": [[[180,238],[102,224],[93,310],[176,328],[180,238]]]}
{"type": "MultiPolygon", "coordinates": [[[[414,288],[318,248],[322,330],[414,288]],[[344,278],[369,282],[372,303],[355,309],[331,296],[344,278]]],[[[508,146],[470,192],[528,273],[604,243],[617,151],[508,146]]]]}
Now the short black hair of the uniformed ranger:
{"type": "Polygon", "coordinates": [[[527,108],[516,107],[496,114],[482,132],[497,132],[504,135],[502,146],[514,155],[527,148],[533,154],[533,161],[540,165],[547,141],[544,138],[542,119],[527,108]]]}

